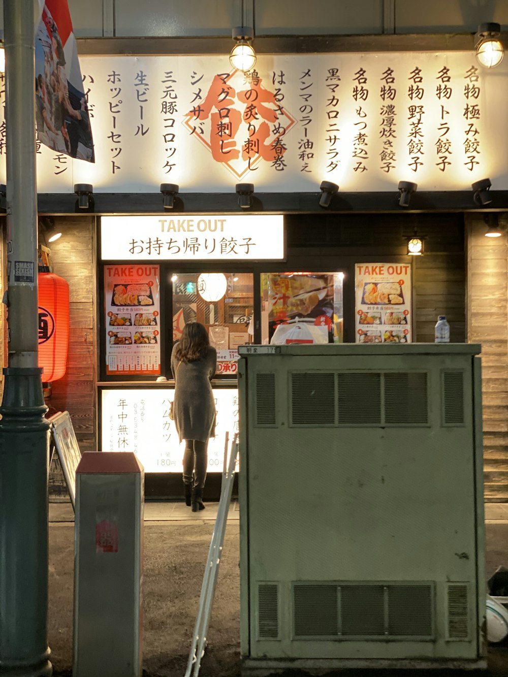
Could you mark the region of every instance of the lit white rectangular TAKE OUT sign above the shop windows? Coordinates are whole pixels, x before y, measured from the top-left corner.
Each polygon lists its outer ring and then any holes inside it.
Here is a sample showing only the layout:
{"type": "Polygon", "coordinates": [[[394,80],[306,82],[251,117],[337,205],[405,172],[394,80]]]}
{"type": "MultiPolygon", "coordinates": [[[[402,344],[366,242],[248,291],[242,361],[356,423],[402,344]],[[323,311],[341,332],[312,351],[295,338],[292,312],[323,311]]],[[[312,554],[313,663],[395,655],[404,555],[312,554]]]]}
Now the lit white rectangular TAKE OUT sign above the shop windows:
{"type": "Polygon", "coordinates": [[[280,215],[104,216],[104,261],[253,261],[284,258],[280,215]]]}

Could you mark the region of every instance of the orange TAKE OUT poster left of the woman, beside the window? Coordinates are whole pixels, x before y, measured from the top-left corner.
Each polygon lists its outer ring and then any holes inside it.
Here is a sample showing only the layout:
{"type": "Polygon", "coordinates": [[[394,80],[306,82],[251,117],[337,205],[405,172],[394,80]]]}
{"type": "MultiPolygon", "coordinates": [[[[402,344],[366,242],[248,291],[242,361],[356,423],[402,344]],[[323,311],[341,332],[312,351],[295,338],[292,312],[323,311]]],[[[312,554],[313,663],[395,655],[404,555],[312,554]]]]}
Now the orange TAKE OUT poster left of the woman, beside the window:
{"type": "Polygon", "coordinates": [[[161,373],[158,265],[105,265],[106,374],[161,373]]]}

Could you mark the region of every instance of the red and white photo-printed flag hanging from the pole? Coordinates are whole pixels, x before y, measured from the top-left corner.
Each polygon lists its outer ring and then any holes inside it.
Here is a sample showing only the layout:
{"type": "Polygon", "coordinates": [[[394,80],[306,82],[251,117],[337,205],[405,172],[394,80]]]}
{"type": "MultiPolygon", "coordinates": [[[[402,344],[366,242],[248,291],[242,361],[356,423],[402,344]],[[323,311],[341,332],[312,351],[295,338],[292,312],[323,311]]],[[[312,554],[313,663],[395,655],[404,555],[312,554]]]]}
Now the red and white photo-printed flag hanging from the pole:
{"type": "Polygon", "coordinates": [[[39,0],[35,31],[38,140],[62,157],[95,162],[89,111],[67,0],[39,0]]]}

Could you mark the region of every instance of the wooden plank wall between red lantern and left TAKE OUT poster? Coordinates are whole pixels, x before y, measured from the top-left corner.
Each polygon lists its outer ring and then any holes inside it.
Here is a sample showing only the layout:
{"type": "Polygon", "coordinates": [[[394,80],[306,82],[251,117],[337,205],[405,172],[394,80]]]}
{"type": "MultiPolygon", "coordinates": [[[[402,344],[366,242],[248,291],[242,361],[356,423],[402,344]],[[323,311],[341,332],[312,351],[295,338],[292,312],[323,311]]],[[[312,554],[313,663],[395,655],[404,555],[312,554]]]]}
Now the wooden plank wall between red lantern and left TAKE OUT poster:
{"type": "Polygon", "coordinates": [[[47,399],[50,413],[67,410],[81,452],[97,450],[97,290],[95,218],[54,217],[62,237],[51,242],[54,272],[69,284],[66,374],[47,399]]]}

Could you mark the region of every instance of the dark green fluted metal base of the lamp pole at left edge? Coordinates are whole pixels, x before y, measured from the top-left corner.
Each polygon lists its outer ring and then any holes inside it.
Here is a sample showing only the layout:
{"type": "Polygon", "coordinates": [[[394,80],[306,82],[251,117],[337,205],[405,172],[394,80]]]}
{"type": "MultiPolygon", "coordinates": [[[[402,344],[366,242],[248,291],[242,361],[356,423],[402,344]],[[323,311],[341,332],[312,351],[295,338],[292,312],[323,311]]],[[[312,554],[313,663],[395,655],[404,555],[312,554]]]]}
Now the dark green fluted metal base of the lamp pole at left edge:
{"type": "Polygon", "coordinates": [[[39,368],[3,370],[0,407],[0,675],[49,677],[49,422],[39,368]]]}

